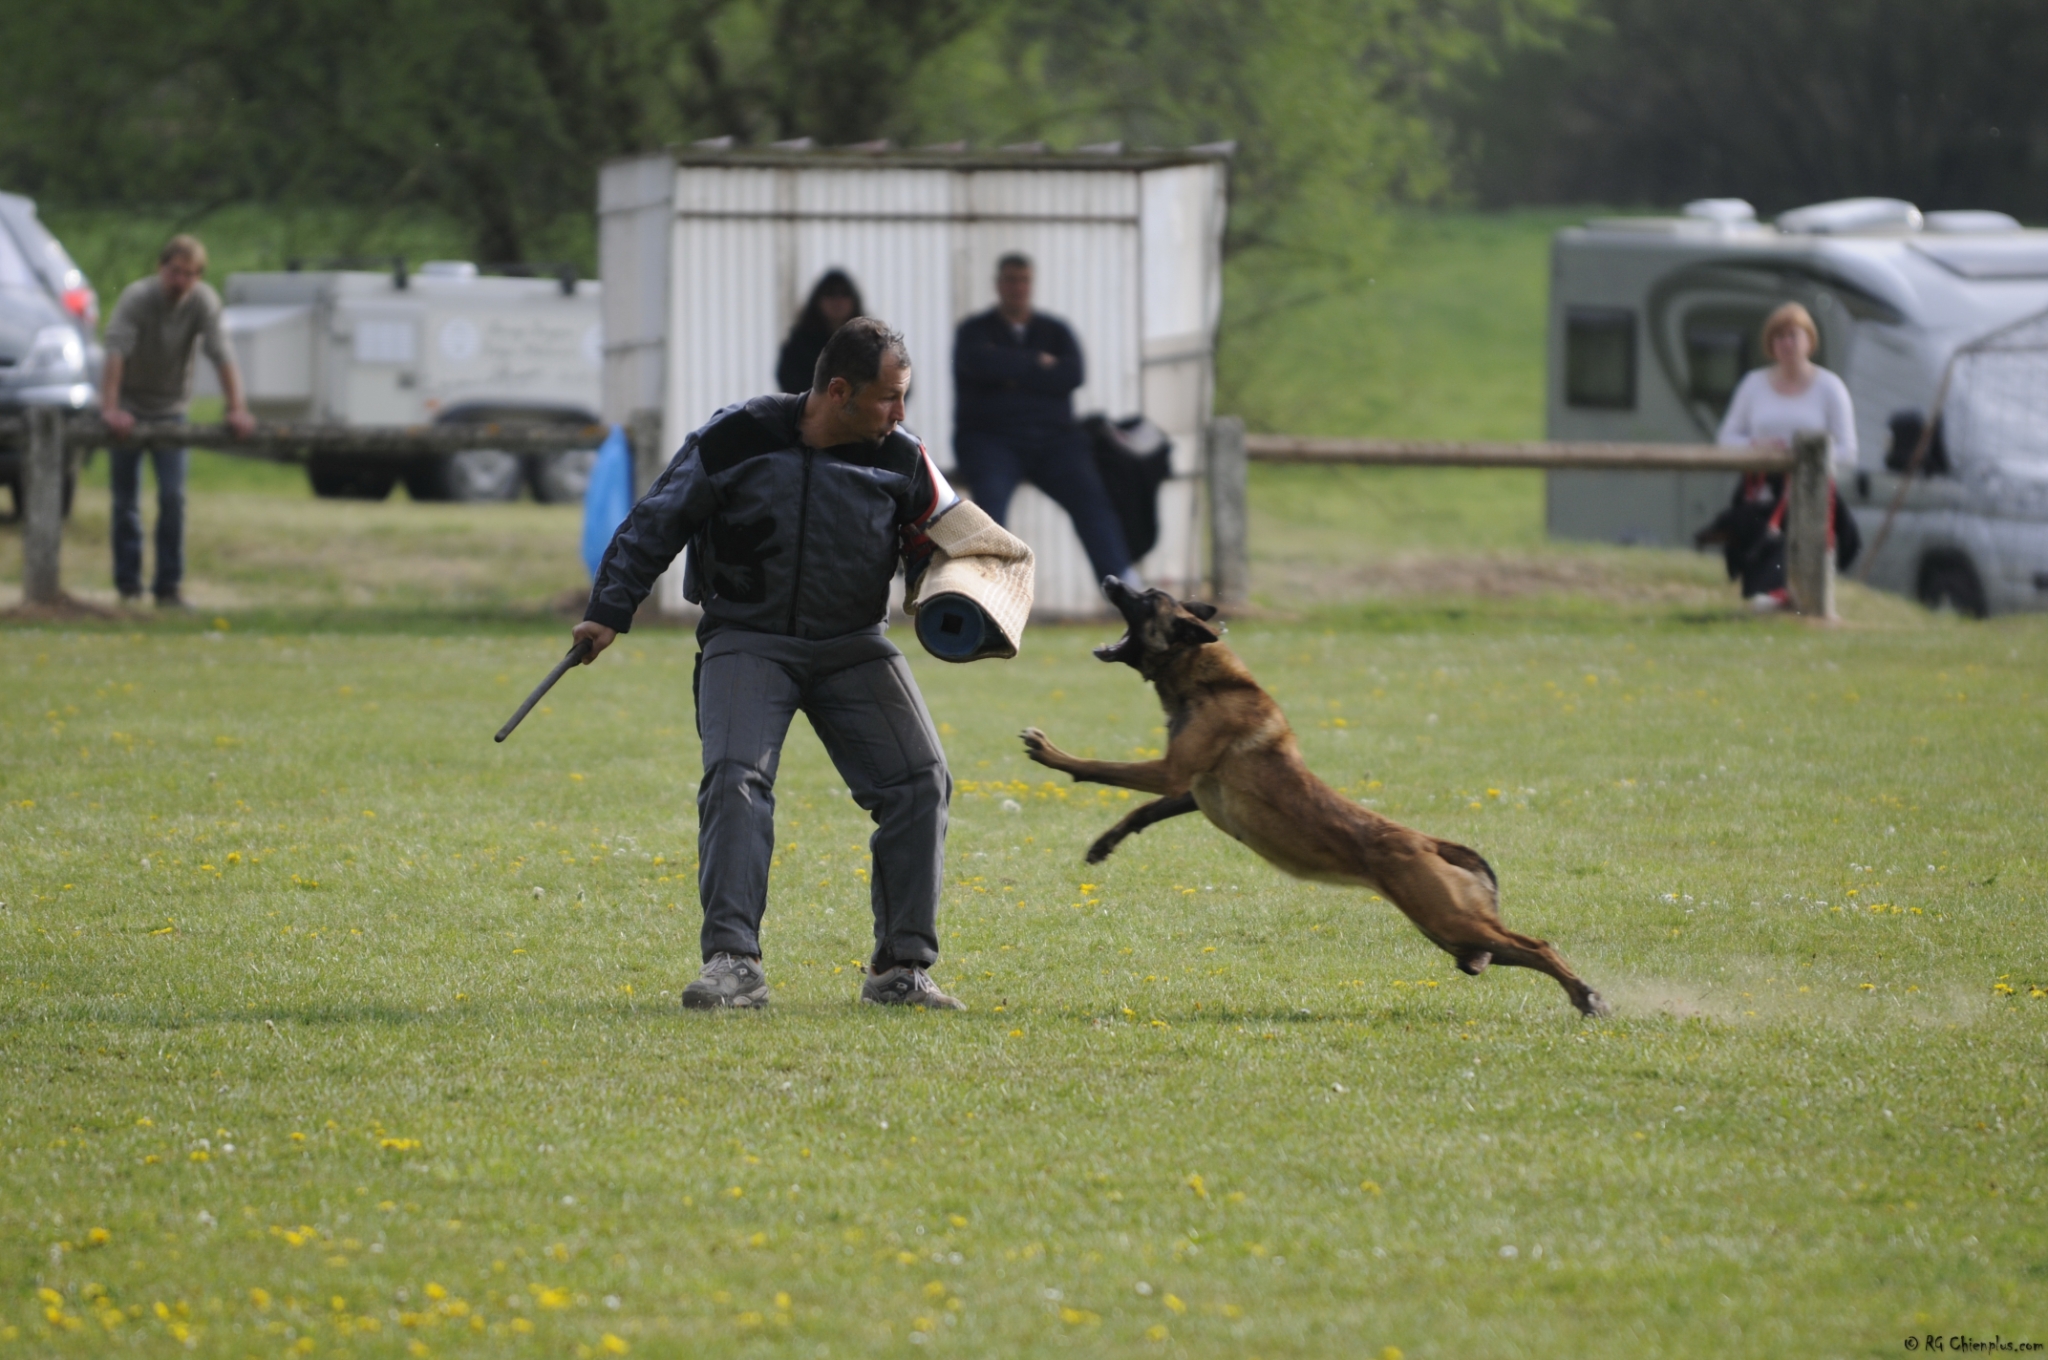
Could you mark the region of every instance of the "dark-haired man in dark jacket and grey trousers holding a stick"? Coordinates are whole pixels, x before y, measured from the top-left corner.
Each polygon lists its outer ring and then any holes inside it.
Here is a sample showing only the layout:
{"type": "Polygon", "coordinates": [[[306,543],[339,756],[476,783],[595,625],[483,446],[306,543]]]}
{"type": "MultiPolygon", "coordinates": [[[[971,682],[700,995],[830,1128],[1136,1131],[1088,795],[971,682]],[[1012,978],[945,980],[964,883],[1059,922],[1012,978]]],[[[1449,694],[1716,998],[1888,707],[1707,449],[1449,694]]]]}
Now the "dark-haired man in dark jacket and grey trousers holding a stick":
{"type": "Polygon", "coordinates": [[[729,406],[682,442],[618,526],[578,639],[592,660],[684,547],[696,629],[696,795],[705,971],[692,1010],[766,1006],[760,922],[774,854],[774,776],[803,711],[854,801],[872,817],[874,961],[860,1000],[958,1010],[938,961],[952,776],[918,682],[883,635],[897,561],[922,565],[924,530],[958,504],[901,426],[903,336],[842,326],[811,391],[729,406]]]}

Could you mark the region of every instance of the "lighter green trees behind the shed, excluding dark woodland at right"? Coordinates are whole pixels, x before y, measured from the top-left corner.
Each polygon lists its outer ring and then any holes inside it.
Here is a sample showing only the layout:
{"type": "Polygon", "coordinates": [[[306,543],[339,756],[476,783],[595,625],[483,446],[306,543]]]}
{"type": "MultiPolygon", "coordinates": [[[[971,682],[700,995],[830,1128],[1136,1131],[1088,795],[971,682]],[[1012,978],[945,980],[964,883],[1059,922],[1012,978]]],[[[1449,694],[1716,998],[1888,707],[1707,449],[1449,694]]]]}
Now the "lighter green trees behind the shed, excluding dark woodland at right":
{"type": "Polygon", "coordinates": [[[1346,268],[1450,166],[1425,100],[1575,0],[74,0],[6,6],[0,182],[432,205],[485,260],[666,141],[1237,141],[1233,248],[1346,268]],[[1364,209],[1364,211],[1362,211],[1364,209]]]}

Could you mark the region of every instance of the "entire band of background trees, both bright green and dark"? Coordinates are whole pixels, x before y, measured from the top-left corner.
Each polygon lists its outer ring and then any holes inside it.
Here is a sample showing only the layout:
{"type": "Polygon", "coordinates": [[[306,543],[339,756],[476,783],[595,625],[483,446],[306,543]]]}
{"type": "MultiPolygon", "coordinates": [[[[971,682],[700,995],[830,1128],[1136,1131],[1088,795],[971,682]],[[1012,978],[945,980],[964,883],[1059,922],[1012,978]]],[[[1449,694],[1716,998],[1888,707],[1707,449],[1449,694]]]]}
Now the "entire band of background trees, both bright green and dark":
{"type": "Polygon", "coordinates": [[[0,68],[4,188],[481,260],[588,254],[598,162],[717,135],[1235,139],[1231,248],[1305,287],[1397,203],[2048,219],[2042,0],[68,0],[0,6],[0,68]]]}

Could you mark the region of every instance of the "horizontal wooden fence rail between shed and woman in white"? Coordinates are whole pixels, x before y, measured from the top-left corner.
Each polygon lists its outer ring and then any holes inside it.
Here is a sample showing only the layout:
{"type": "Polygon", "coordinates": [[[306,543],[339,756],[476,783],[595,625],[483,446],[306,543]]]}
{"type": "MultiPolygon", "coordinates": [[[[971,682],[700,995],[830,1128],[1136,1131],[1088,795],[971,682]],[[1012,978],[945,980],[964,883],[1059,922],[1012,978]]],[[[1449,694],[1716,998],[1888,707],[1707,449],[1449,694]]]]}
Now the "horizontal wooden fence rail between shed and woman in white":
{"type": "Polygon", "coordinates": [[[1581,467],[1612,471],[1784,473],[1792,453],[1720,444],[1575,444],[1415,438],[1313,438],[1245,434],[1253,463],[1356,463],[1368,467],[1581,467]]]}

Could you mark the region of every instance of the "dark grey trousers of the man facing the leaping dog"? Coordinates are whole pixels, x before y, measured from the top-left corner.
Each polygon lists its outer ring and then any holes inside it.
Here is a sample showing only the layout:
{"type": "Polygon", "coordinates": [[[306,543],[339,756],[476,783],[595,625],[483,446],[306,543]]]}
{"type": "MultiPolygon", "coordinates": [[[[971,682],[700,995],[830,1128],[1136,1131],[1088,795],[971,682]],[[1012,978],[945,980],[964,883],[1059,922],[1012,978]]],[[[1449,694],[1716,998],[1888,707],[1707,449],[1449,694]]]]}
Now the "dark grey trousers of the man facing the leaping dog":
{"type": "Polygon", "coordinates": [[[760,954],[774,856],[774,776],[799,711],[874,819],[874,965],[938,961],[952,774],[909,664],[883,631],[829,641],[721,629],[696,662],[696,893],[705,959],[760,954]]]}

